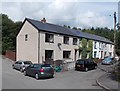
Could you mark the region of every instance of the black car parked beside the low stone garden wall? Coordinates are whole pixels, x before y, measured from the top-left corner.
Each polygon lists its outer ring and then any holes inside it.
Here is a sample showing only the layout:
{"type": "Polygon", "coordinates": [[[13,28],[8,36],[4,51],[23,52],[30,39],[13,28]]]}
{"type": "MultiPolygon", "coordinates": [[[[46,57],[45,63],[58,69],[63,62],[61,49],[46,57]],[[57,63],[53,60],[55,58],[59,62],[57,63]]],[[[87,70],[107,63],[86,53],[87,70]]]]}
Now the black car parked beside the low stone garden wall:
{"type": "Polygon", "coordinates": [[[97,64],[92,59],[79,59],[75,63],[75,70],[88,71],[91,69],[96,69],[97,64]]]}

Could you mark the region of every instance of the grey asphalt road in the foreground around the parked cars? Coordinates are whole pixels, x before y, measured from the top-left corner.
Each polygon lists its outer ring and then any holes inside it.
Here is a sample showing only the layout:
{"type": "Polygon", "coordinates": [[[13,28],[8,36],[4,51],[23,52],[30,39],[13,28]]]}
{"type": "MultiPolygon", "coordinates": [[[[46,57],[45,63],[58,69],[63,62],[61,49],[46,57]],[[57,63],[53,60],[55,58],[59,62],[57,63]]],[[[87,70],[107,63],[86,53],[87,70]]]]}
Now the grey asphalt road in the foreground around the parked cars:
{"type": "Polygon", "coordinates": [[[66,71],[54,78],[35,80],[12,69],[12,61],[2,60],[2,89],[102,89],[96,79],[104,74],[100,69],[88,72],[66,71]]]}

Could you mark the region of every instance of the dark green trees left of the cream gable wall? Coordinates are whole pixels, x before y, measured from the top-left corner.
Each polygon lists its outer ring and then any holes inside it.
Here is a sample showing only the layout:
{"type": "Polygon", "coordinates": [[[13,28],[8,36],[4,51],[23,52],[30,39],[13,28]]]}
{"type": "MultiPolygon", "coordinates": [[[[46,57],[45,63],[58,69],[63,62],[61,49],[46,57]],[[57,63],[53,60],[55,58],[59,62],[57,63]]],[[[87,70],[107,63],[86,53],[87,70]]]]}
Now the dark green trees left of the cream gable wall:
{"type": "Polygon", "coordinates": [[[5,14],[0,16],[2,16],[2,54],[5,54],[6,50],[16,49],[16,36],[22,22],[13,22],[5,14]]]}

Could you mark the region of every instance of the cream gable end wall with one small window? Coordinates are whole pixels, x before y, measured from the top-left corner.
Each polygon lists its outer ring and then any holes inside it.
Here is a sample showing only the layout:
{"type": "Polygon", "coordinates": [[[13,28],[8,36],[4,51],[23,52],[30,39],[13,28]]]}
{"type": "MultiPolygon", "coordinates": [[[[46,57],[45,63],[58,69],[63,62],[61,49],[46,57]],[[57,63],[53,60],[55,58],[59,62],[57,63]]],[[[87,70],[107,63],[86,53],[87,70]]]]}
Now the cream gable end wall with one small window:
{"type": "Polygon", "coordinates": [[[38,30],[26,21],[17,36],[17,60],[38,62],[38,30]],[[28,41],[25,35],[28,34],[28,41]]]}

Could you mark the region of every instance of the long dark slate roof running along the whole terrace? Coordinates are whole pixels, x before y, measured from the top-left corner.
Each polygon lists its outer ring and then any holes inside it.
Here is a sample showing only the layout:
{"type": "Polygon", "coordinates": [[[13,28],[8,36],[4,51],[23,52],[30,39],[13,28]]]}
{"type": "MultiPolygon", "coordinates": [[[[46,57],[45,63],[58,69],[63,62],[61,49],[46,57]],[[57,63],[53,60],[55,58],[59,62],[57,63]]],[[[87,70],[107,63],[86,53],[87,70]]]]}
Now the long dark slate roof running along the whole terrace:
{"type": "Polygon", "coordinates": [[[92,39],[92,40],[97,40],[97,41],[113,44],[113,42],[111,42],[110,40],[104,37],[81,32],[80,30],[69,29],[63,26],[50,24],[50,23],[42,23],[40,21],[28,19],[28,18],[26,18],[26,20],[29,23],[31,23],[35,28],[37,28],[39,31],[57,33],[57,34],[62,34],[62,35],[74,36],[74,37],[83,37],[87,39],[92,39]]]}

